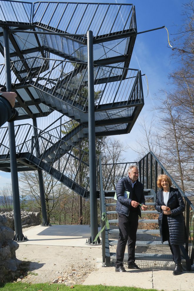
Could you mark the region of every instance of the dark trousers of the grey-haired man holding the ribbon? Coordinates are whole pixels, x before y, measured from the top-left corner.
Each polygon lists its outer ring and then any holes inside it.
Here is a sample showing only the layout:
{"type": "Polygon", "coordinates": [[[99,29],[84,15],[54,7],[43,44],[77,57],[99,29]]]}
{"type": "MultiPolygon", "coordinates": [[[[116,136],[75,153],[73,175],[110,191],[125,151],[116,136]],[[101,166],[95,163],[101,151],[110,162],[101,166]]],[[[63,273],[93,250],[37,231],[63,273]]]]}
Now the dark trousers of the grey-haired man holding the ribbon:
{"type": "Polygon", "coordinates": [[[128,264],[135,262],[136,233],[138,228],[138,212],[130,211],[129,216],[118,213],[119,239],[116,249],[118,268],[123,265],[125,248],[128,241],[128,264]]]}

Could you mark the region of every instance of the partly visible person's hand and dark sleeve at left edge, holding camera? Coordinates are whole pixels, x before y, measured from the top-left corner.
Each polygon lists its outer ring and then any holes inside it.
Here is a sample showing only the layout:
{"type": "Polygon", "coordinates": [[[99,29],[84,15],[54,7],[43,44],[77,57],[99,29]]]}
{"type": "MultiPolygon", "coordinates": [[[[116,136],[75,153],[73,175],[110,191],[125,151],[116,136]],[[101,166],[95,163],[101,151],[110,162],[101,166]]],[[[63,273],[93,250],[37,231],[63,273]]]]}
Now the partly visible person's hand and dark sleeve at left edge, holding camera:
{"type": "Polygon", "coordinates": [[[18,112],[14,108],[17,94],[5,90],[6,88],[0,85],[0,127],[6,121],[14,121],[18,116],[18,112]]]}

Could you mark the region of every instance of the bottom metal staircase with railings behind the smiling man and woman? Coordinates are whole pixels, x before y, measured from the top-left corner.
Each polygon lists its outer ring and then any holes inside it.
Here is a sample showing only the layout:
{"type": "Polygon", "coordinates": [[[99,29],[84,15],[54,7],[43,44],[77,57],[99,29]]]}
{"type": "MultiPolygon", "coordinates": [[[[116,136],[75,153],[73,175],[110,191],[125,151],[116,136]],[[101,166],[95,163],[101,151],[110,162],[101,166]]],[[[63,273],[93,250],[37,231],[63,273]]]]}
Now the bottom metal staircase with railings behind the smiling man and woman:
{"type": "MultiPolygon", "coordinates": [[[[99,183],[100,183],[100,201],[101,201],[101,213],[104,213],[108,220],[109,229],[105,227],[102,232],[102,256],[104,264],[109,267],[114,260],[116,260],[116,245],[118,242],[119,229],[118,219],[115,211],[116,201],[114,200],[115,189],[117,181],[126,175],[127,169],[130,164],[138,164],[140,169],[140,181],[144,185],[145,193],[145,204],[148,205],[148,210],[141,210],[142,218],[139,218],[139,226],[137,230],[137,241],[136,241],[136,260],[141,261],[173,261],[168,242],[163,244],[160,241],[160,232],[158,229],[158,212],[155,210],[155,198],[157,188],[153,189],[157,176],[160,173],[166,173],[168,171],[158,161],[153,153],[148,153],[141,161],[134,163],[119,163],[119,164],[108,164],[101,165],[101,157],[99,160],[99,183]],[[144,165],[147,165],[144,167],[144,165]],[[103,174],[103,170],[106,171],[106,175],[103,174]],[[107,178],[108,177],[108,178],[107,178]],[[108,183],[108,181],[111,183],[108,183]],[[148,188],[150,187],[150,188],[148,188]],[[150,218],[150,215],[152,216],[150,218]],[[154,217],[153,217],[154,216],[154,217]],[[149,240],[148,237],[149,236],[149,240]],[[138,246],[144,247],[144,251],[138,253],[138,246]],[[157,246],[157,253],[154,252],[157,246]]],[[[170,175],[169,175],[170,176],[170,175]]],[[[185,270],[191,270],[191,265],[194,259],[194,244],[193,244],[193,225],[192,219],[194,212],[194,205],[190,202],[188,197],[181,191],[176,182],[170,176],[173,187],[178,188],[185,201],[185,225],[187,227],[188,242],[182,247],[182,264],[185,270]]],[[[106,226],[106,221],[101,221],[101,229],[106,226]]],[[[128,259],[128,254],[125,253],[124,262],[128,259]]]]}

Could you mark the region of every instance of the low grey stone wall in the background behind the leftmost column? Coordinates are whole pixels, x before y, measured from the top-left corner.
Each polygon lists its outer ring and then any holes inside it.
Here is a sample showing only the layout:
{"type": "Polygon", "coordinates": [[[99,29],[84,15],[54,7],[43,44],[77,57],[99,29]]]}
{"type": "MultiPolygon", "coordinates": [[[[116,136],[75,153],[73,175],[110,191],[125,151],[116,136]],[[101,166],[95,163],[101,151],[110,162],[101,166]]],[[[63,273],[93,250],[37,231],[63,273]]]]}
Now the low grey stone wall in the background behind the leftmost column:
{"type": "MultiPolygon", "coordinates": [[[[6,217],[6,227],[11,228],[12,230],[15,230],[14,227],[14,211],[11,212],[1,212],[1,215],[5,215],[6,217]]],[[[27,211],[21,211],[21,224],[22,228],[27,228],[34,225],[40,225],[40,213],[39,212],[27,212],[27,211]]]]}

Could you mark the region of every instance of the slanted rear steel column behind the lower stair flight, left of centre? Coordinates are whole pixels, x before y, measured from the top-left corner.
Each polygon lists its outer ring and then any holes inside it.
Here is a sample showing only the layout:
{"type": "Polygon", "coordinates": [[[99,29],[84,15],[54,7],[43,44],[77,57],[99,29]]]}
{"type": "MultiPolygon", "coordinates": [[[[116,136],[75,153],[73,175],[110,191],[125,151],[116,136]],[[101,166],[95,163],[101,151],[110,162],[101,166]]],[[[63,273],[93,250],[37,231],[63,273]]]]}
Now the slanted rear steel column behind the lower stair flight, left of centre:
{"type": "MultiPolygon", "coordinates": [[[[33,126],[34,126],[34,141],[35,141],[36,156],[39,157],[40,148],[39,148],[36,118],[33,118],[33,126]]],[[[41,199],[41,209],[42,209],[41,226],[51,226],[51,224],[48,222],[47,213],[46,213],[46,202],[45,202],[44,181],[43,181],[42,170],[38,170],[38,176],[39,176],[39,189],[40,189],[40,199],[41,199]]]]}

